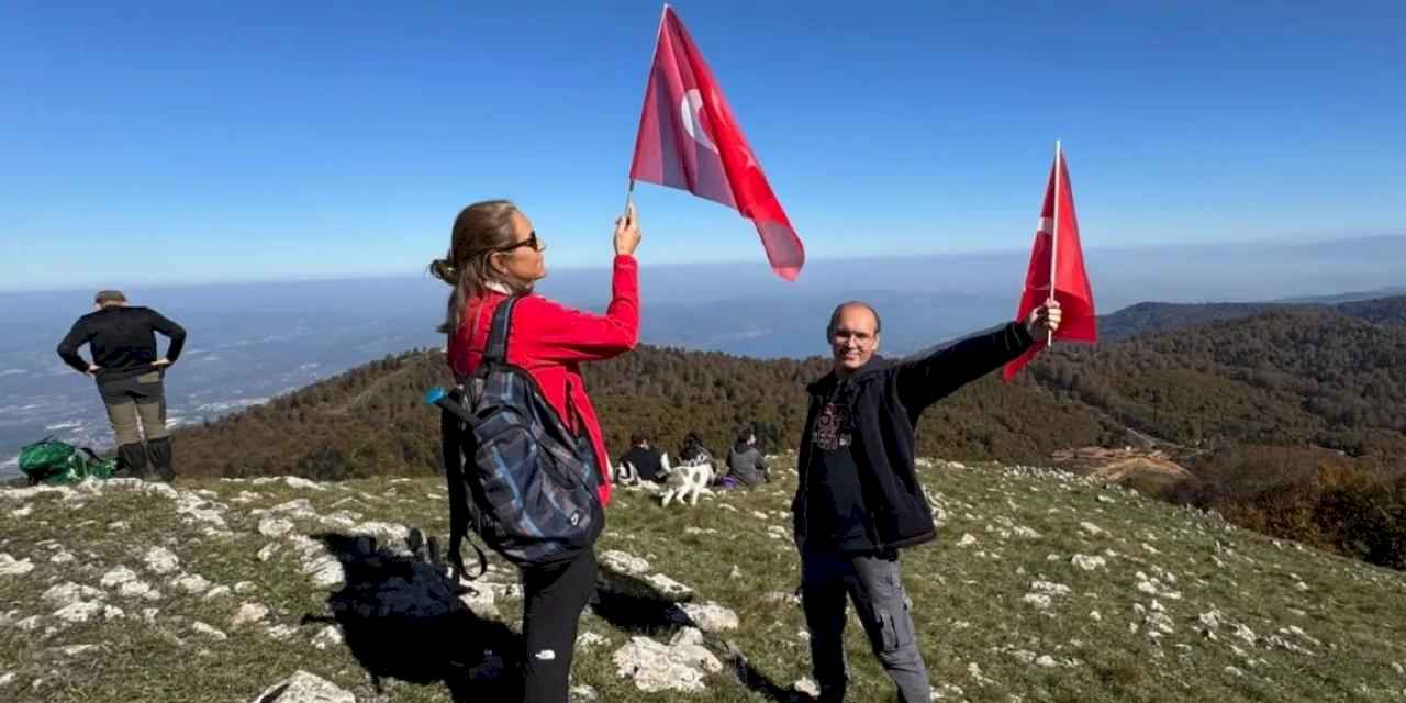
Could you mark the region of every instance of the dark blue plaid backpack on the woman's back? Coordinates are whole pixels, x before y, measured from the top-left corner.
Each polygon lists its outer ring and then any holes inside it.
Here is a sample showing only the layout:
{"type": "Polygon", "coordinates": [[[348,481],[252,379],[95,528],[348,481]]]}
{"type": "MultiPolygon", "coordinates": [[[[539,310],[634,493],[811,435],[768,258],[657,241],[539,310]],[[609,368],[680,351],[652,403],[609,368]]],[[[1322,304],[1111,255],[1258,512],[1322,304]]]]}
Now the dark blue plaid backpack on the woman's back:
{"type": "MultiPolygon", "coordinates": [[[[467,530],[517,565],[569,561],[589,550],[605,526],[589,434],[575,434],[537,381],[508,363],[508,336],[519,295],[494,312],[484,360],[461,387],[432,388],[440,406],[444,475],[450,494],[450,558],[467,530]]],[[[478,551],[479,572],[485,567],[478,551]]]]}

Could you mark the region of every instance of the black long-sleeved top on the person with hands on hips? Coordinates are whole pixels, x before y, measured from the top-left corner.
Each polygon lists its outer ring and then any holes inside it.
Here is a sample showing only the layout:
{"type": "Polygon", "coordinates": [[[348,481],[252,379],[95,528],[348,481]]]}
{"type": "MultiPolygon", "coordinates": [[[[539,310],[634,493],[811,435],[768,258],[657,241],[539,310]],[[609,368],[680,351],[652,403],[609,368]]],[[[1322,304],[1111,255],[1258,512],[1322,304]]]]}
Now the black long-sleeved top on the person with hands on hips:
{"type": "Polygon", "coordinates": [[[93,364],[98,367],[98,381],[129,378],[150,371],[152,361],[160,359],[156,332],[170,337],[166,360],[176,363],[186,346],[186,329],[150,308],[121,305],[79,318],[59,342],[59,356],[73,368],[87,373],[87,361],[79,356],[79,347],[89,344],[93,364]]]}

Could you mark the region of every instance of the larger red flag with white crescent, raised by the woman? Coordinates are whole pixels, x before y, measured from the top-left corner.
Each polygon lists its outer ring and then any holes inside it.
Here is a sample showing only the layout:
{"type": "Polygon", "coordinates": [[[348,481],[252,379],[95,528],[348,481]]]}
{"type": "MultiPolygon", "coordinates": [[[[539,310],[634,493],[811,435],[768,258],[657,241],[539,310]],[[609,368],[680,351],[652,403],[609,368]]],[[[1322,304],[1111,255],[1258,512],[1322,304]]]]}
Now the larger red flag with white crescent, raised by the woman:
{"type": "Polygon", "coordinates": [[[659,20],[630,179],[682,188],[737,209],[756,225],[772,270],[796,280],[806,250],[742,136],[733,108],[683,22],[659,20]]]}

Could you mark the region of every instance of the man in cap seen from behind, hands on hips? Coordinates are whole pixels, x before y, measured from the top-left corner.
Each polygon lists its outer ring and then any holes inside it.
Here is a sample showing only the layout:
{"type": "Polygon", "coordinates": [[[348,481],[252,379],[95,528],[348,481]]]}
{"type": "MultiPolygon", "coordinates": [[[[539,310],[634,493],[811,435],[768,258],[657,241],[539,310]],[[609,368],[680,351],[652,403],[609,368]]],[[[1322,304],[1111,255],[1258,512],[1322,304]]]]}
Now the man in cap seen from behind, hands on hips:
{"type": "Polygon", "coordinates": [[[150,308],[129,308],[122,291],[100,291],[94,304],[97,311],[79,318],[59,342],[59,357],[80,374],[97,380],[122,464],[142,477],[150,451],[156,474],[163,481],[172,481],[176,472],[172,468],[170,434],[166,432],[163,378],[166,368],[180,357],[186,330],[150,308]],[[156,354],[155,332],[170,339],[166,356],[156,354]],[[89,344],[91,363],[79,356],[83,344],[89,344]]]}

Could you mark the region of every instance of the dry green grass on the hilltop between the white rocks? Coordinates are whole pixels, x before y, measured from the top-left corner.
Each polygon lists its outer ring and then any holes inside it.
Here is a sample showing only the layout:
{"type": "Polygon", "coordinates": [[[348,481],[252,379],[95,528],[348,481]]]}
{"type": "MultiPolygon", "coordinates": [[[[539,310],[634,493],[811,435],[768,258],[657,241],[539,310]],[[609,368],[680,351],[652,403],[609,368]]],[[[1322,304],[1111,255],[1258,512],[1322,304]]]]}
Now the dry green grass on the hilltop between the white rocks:
{"type": "MultiPolygon", "coordinates": [[[[904,553],[904,574],[932,683],[943,700],[1406,700],[1406,575],[1400,572],[1274,543],[1067,474],[941,463],[924,472],[945,526],[935,544],[904,553]],[[1071,562],[1077,554],[1102,557],[1105,564],[1084,571],[1071,562]],[[1067,593],[1057,586],[1067,586],[1067,593]],[[1026,600],[1042,592],[1050,598],[1047,607],[1026,600]],[[1213,637],[1201,623],[1212,612],[1219,613],[1213,637]],[[1247,628],[1241,637],[1237,626],[1247,628]]],[[[730,666],[709,678],[704,695],[640,692],[616,675],[613,652],[633,636],[666,640],[676,626],[644,612],[628,621],[617,612],[609,619],[583,617],[582,631],[607,644],[578,654],[575,683],[593,688],[599,700],[758,702],[780,697],[778,690],[808,675],[800,607],[773,595],[792,592],[799,575],[790,540],[772,536],[787,534],[790,524],[794,477],[782,474],[775,484],[725,494],[696,509],[662,509],[657,498],[620,492],[599,546],[643,557],[654,571],[692,586],[697,600],[735,610],[741,627],[710,637],[709,644],[724,662],[735,661],[727,644],[744,654],[747,681],[730,666]]],[[[183,494],[208,491],[208,502],[197,508],[217,510],[228,533],[177,513],[167,495],[115,488],[67,499],[4,494],[0,553],[30,560],[34,568],[0,575],[0,699],[246,702],[305,669],[359,700],[494,700],[492,689],[467,681],[465,671],[477,662],[484,637],[510,638],[519,617],[515,600],[499,599],[501,623],[467,616],[418,623],[377,633],[375,645],[347,631],[346,644],[319,650],[312,641],[333,614],[336,588],[311,583],[287,537],[257,531],[260,520],[276,513],[256,509],[307,499],[318,516],[346,510],[357,523],[378,520],[443,534],[440,481],[353,481],[325,491],[284,482],[180,485],[183,494]],[[236,502],[242,492],[254,498],[236,502]],[[270,543],[285,546],[260,561],[257,553],[270,543]],[[180,569],[150,572],[143,558],[153,546],[174,553],[180,569]],[[52,561],[60,553],[73,560],[52,561]],[[120,565],[162,598],[122,598],[101,586],[104,574],[120,565]],[[207,599],[181,593],[172,582],[180,574],[252,586],[245,585],[243,595],[207,599]],[[103,602],[124,614],[60,621],[52,614],[56,606],[41,595],[65,582],[104,591],[103,602]],[[270,614],[256,626],[231,626],[246,602],[263,603],[270,614]],[[148,619],[145,607],[159,612],[148,619]],[[228,638],[194,631],[197,620],[228,638]],[[285,626],[288,634],[274,637],[271,626],[285,626]],[[80,644],[96,647],[65,651],[80,644]],[[380,690],[370,673],[385,675],[380,690]]],[[[194,502],[186,499],[187,506],[194,502]]],[[[314,517],[292,522],[304,534],[356,531],[314,517]]],[[[389,560],[384,568],[408,567],[389,560]]],[[[846,631],[846,647],[852,699],[890,700],[891,686],[858,623],[846,631]]]]}

